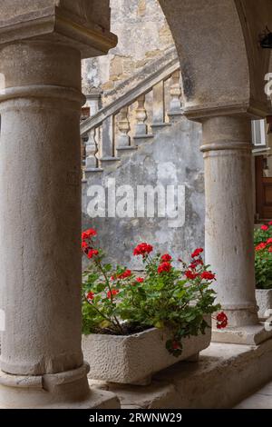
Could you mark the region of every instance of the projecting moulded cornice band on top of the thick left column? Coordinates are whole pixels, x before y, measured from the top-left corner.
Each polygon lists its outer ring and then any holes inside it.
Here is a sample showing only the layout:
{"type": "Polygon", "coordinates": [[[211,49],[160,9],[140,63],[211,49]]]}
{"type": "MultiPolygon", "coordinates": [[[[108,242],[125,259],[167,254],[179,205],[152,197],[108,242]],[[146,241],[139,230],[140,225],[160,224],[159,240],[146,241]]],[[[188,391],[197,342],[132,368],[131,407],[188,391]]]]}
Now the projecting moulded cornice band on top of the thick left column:
{"type": "Polygon", "coordinates": [[[15,16],[0,21],[0,45],[24,40],[49,40],[69,44],[80,50],[82,57],[107,54],[117,44],[117,37],[101,26],[83,21],[59,7],[15,16]]]}

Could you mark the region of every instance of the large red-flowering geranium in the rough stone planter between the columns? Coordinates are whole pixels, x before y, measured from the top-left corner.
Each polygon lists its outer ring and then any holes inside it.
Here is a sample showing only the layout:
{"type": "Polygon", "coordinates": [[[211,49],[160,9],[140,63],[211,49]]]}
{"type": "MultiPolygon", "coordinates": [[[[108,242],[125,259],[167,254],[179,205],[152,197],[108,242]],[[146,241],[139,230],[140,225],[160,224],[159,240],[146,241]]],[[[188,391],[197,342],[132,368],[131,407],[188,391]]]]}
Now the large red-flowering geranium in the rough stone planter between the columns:
{"type": "MultiPolygon", "coordinates": [[[[173,264],[169,253],[152,254],[153,247],[141,243],[134,256],[141,257],[144,272],[138,277],[131,270],[104,263],[105,254],[95,247],[96,232],[83,233],[83,253],[92,260],[83,274],[83,333],[126,335],[151,327],[170,330],[167,349],[174,356],[182,353],[182,340],[205,333],[205,315],[219,312],[211,283],[216,280],[202,259],[203,249],[191,254],[189,265],[173,264]]],[[[216,317],[219,328],[228,324],[225,313],[216,317]]]]}

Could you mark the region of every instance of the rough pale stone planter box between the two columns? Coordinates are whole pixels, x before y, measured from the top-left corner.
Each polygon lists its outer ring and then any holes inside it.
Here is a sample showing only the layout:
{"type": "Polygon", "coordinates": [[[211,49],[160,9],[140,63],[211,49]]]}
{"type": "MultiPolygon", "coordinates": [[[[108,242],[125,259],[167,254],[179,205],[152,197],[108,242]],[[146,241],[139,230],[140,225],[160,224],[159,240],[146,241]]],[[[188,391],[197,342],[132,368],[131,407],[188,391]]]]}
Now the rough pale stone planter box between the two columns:
{"type": "Polygon", "coordinates": [[[174,363],[189,359],[197,361],[199,352],[209,347],[211,329],[207,328],[205,335],[183,340],[183,352],[179,358],[165,348],[169,338],[169,333],[155,328],[130,336],[83,336],[84,359],[91,366],[88,376],[107,382],[148,384],[153,373],[174,363]]]}

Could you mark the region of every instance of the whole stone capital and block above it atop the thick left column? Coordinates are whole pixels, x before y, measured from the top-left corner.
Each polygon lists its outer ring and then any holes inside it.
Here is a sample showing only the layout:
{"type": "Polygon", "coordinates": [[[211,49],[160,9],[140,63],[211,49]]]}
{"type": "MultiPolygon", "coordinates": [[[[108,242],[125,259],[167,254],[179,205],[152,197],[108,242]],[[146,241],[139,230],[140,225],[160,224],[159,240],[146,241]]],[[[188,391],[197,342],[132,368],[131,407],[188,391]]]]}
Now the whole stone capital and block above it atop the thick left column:
{"type": "Polygon", "coordinates": [[[72,45],[83,58],[107,54],[117,44],[110,32],[110,8],[97,0],[0,0],[0,46],[18,41],[47,40],[72,45]],[[102,20],[107,12],[108,19],[102,20]],[[108,22],[108,25],[107,25],[108,22]]]}

